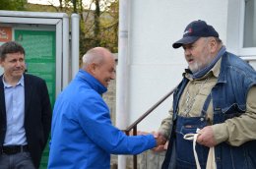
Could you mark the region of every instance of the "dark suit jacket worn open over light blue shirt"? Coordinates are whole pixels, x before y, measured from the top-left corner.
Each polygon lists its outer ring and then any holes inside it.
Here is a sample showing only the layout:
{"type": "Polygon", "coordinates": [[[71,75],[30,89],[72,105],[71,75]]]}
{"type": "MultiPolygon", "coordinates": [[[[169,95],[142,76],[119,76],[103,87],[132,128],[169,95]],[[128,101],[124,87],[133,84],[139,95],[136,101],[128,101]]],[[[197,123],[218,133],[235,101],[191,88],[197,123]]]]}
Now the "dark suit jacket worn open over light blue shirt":
{"type": "MultiPolygon", "coordinates": [[[[0,77],[0,146],[6,134],[6,108],[3,76],[0,77]]],[[[25,84],[25,131],[32,155],[32,162],[39,167],[40,158],[48,140],[51,125],[51,105],[45,82],[24,74],[25,84]]]]}

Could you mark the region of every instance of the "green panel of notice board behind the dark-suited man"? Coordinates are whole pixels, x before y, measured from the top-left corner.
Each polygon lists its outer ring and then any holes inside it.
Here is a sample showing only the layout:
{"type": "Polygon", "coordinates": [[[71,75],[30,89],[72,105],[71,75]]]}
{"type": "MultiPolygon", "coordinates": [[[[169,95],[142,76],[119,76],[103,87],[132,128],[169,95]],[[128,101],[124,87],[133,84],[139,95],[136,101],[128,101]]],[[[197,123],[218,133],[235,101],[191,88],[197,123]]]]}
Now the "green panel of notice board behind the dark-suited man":
{"type": "MultiPolygon", "coordinates": [[[[51,105],[55,102],[56,84],[56,38],[55,31],[15,29],[15,40],[26,51],[26,65],[29,74],[45,80],[51,105]]],[[[48,145],[44,149],[40,168],[47,168],[48,145]]]]}

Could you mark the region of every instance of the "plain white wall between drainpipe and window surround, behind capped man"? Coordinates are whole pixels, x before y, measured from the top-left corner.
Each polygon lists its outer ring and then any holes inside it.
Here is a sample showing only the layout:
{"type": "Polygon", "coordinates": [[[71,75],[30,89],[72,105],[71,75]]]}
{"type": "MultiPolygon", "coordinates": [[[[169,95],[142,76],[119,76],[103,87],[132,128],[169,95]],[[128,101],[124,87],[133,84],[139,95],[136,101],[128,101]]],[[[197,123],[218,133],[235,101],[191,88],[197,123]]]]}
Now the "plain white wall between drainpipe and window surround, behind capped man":
{"type": "MultiPolygon", "coordinates": [[[[181,38],[194,20],[205,20],[226,41],[228,0],[131,0],[129,23],[129,123],[133,123],[165,93],[178,84],[187,64],[183,49],[171,44],[181,38]]],[[[156,131],[167,116],[166,100],[139,126],[156,131]]]]}

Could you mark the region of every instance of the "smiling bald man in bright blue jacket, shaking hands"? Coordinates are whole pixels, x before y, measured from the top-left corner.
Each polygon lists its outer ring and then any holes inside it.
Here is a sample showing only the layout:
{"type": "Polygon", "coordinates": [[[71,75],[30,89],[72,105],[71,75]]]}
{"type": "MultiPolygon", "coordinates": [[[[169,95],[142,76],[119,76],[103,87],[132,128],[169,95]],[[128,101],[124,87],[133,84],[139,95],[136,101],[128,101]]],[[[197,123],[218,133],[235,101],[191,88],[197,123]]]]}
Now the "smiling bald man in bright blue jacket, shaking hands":
{"type": "Polygon", "coordinates": [[[114,78],[111,52],[96,47],[84,55],[83,68],[55,102],[49,169],[108,169],[110,153],[137,154],[164,142],[153,135],[127,137],[112,126],[101,94],[114,78]]]}

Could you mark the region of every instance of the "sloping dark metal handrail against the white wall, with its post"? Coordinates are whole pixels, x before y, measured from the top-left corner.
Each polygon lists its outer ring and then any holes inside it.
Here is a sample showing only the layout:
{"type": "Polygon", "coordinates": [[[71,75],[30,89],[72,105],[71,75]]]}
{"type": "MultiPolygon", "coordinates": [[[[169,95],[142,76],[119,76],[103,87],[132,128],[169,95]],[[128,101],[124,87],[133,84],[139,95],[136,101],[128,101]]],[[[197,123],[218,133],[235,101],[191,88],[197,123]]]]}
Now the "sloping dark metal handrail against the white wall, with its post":
{"type": "MultiPolygon", "coordinates": [[[[166,98],[168,98],[175,90],[176,87],[171,89],[166,95],[164,95],[160,100],[154,104],[148,111],[146,111],[139,119],[137,119],[133,124],[131,124],[126,130],[125,134],[129,136],[131,130],[133,130],[133,136],[137,136],[137,125],[144,120],[153,110],[155,110],[166,98]]],[[[137,169],[137,155],[133,155],[133,168],[137,169]]]]}

